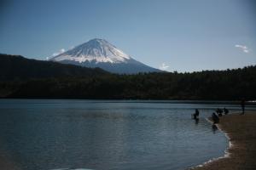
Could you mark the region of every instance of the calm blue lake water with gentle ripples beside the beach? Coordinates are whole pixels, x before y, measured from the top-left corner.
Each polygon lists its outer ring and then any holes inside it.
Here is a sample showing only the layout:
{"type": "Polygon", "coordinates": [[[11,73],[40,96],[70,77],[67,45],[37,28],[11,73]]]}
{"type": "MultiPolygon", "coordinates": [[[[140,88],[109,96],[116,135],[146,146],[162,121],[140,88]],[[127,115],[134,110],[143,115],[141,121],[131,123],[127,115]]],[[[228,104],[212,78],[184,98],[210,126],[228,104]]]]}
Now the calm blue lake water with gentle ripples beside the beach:
{"type": "Polygon", "coordinates": [[[185,169],[224,155],[224,133],[205,119],[224,106],[240,110],[218,102],[0,99],[0,157],[21,170],[185,169]]]}

